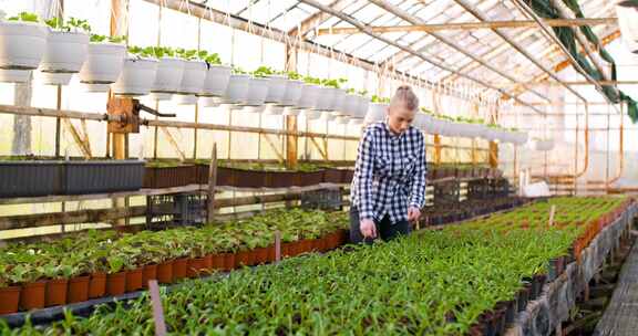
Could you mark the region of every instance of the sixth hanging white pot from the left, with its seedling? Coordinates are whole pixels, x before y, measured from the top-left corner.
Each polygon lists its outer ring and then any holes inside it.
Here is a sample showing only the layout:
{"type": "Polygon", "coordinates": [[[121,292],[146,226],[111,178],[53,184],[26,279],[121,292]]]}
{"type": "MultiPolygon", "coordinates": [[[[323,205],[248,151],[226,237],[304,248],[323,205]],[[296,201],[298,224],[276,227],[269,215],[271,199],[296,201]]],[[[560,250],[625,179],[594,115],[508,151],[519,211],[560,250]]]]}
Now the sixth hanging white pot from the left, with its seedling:
{"type": "Polygon", "coordinates": [[[178,94],[173,95],[173,101],[179,105],[197,104],[195,95],[202,92],[204,87],[208,65],[199,57],[196,50],[177,49],[176,54],[185,61],[185,66],[179,82],[178,94]]]}

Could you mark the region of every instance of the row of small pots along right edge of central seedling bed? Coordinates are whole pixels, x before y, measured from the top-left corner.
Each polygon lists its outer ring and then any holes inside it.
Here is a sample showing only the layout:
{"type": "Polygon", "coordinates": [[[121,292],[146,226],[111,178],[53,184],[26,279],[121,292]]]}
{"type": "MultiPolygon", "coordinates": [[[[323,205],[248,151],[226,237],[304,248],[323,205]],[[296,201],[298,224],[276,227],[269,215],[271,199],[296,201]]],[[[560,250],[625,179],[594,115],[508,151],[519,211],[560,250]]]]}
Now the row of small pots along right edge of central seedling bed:
{"type": "Polygon", "coordinates": [[[493,309],[481,314],[477,323],[470,329],[470,335],[505,335],[507,326],[514,322],[516,314],[525,311],[529,302],[541,297],[545,283],[550,283],[559,277],[570,263],[575,261],[580,262],[582,251],[589,245],[603,229],[610,225],[620,216],[622,216],[630,204],[631,200],[628,200],[613,212],[603,216],[596,221],[587,223],[585,233],[574,242],[567,254],[550,260],[547,273],[523,279],[524,287],[516,293],[515,297],[512,301],[498,302],[493,309]]]}

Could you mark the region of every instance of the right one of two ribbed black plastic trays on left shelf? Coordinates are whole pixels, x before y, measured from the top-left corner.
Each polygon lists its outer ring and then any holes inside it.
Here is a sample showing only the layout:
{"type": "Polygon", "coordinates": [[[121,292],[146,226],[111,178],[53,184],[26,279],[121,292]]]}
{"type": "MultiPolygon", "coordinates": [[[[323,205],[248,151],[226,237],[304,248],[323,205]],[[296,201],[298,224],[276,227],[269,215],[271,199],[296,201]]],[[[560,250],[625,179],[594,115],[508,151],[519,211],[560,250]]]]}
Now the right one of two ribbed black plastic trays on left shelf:
{"type": "Polygon", "coordinates": [[[66,195],[140,190],[144,181],[144,161],[66,161],[62,192],[66,195]]]}

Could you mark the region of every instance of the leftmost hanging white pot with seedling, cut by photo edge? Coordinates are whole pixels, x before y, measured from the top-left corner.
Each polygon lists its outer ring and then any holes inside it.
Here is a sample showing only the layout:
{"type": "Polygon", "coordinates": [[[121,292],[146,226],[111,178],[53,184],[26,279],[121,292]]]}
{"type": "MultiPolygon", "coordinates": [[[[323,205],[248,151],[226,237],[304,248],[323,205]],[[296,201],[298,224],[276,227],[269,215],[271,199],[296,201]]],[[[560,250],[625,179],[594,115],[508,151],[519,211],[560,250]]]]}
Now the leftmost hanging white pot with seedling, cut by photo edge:
{"type": "Polygon", "coordinates": [[[49,29],[37,14],[0,19],[0,82],[24,83],[40,65],[49,29]]]}

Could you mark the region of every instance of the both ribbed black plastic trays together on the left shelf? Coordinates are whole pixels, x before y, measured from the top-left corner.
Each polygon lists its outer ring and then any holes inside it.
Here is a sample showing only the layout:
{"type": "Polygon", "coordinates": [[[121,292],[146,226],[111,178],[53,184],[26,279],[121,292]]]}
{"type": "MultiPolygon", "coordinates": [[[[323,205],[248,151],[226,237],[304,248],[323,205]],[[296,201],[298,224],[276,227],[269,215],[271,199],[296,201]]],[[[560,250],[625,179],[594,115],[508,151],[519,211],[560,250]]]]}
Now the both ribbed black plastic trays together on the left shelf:
{"type": "Polygon", "coordinates": [[[0,198],[138,190],[140,160],[0,161],[0,198]]]}

